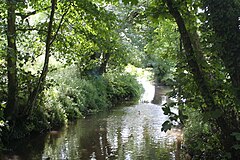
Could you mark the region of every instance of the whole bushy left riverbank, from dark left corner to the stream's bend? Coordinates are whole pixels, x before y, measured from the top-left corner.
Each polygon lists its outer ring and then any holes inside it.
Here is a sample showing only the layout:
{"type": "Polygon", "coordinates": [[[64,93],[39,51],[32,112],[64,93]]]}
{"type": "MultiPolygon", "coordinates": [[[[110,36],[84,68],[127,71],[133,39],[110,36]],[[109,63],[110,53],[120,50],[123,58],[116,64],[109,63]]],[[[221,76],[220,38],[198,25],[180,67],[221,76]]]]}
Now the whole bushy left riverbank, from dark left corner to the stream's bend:
{"type": "Polygon", "coordinates": [[[10,130],[7,124],[1,128],[3,143],[61,128],[68,121],[109,110],[119,102],[136,101],[142,93],[136,77],[129,73],[84,78],[76,75],[73,68],[53,74],[55,85],[44,91],[33,113],[10,130]]]}

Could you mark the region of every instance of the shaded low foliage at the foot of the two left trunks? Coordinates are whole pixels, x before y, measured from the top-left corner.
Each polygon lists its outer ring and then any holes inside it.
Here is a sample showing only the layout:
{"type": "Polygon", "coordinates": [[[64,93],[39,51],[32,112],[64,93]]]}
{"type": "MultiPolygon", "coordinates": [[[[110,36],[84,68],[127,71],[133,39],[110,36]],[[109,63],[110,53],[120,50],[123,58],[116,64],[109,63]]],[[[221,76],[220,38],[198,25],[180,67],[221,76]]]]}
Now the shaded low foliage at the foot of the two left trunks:
{"type": "Polygon", "coordinates": [[[57,129],[67,122],[67,116],[63,108],[57,101],[51,101],[51,98],[42,97],[43,102],[38,104],[32,114],[25,118],[19,118],[13,128],[6,124],[3,126],[3,136],[10,139],[24,138],[31,133],[41,133],[46,130],[57,129]],[[7,135],[6,135],[7,134],[7,135]]]}

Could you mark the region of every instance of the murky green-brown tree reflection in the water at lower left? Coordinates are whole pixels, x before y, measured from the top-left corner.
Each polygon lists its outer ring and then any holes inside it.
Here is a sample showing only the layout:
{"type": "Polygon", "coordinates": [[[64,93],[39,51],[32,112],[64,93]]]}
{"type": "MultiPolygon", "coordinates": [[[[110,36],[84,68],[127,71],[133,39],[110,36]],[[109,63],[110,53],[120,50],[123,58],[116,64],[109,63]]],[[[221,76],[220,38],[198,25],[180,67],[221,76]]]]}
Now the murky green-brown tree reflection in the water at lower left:
{"type": "Polygon", "coordinates": [[[107,142],[106,122],[79,120],[58,138],[49,137],[45,154],[51,159],[106,159],[111,149],[107,142]]]}

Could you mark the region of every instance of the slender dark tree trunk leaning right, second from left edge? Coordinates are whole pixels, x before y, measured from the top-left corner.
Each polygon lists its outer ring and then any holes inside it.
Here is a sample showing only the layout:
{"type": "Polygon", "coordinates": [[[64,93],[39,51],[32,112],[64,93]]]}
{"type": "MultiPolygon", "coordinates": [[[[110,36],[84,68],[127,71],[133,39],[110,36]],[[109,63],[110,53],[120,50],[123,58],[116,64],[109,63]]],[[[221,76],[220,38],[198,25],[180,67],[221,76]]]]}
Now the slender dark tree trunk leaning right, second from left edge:
{"type": "Polygon", "coordinates": [[[46,76],[48,73],[48,65],[49,65],[49,57],[50,57],[50,46],[51,46],[51,40],[52,40],[52,28],[53,28],[53,21],[54,21],[54,14],[55,14],[55,9],[57,5],[57,0],[52,0],[52,5],[51,5],[51,14],[50,14],[50,20],[48,23],[48,32],[47,32],[47,39],[46,39],[46,45],[45,45],[45,61],[42,69],[42,73],[39,77],[37,86],[34,88],[32,93],[29,96],[28,99],[28,105],[25,110],[25,115],[29,115],[36,103],[36,100],[38,98],[39,93],[43,90],[44,83],[46,80],[46,76]]]}

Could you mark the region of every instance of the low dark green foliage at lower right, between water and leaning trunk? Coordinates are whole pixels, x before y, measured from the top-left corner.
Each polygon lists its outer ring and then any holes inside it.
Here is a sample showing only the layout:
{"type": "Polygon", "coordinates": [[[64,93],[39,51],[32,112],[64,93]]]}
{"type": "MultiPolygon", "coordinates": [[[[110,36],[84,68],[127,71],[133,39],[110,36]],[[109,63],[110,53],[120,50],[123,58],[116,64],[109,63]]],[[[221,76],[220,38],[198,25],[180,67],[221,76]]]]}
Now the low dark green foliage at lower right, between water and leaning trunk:
{"type": "Polygon", "coordinates": [[[188,110],[189,120],[184,128],[184,146],[186,152],[194,159],[224,159],[226,154],[219,141],[219,133],[215,132],[209,123],[203,121],[203,116],[197,110],[188,110]]]}

